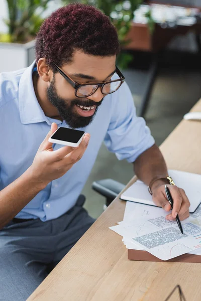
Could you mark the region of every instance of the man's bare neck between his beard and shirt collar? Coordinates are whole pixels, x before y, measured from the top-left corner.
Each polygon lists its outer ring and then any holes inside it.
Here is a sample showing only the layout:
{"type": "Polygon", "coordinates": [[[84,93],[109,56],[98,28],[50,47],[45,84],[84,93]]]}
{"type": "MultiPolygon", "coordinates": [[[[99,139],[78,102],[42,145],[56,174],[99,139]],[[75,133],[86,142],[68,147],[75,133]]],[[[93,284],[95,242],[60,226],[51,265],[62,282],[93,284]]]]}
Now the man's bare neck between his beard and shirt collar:
{"type": "Polygon", "coordinates": [[[49,102],[47,98],[46,89],[48,87],[49,82],[43,81],[37,72],[33,73],[32,78],[33,78],[33,85],[34,85],[36,98],[44,114],[47,117],[51,117],[63,121],[62,118],[59,116],[57,109],[49,102]]]}

